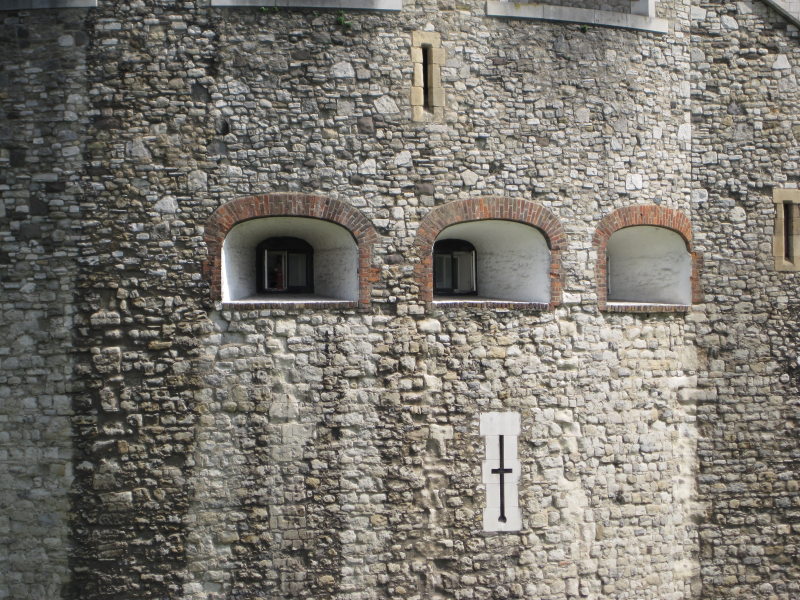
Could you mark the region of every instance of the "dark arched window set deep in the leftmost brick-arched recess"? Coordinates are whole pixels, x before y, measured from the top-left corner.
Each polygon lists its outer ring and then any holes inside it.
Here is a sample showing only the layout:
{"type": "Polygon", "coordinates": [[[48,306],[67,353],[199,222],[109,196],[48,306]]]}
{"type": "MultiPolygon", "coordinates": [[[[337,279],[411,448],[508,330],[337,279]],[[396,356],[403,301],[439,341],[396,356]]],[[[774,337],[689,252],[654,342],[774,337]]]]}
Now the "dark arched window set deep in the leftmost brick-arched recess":
{"type": "Polygon", "coordinates": [[[313,293],[314,249],[299,238],[268,238],[256,247],[261,293],[313,293]]]}

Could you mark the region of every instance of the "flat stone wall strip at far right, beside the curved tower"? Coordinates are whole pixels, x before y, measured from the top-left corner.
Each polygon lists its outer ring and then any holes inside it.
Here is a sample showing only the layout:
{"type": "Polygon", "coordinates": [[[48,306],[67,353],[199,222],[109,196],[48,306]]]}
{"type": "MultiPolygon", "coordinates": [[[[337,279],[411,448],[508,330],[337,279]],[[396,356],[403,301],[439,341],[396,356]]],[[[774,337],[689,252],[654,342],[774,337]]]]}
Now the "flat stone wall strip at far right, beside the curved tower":
{"type": "Polygon", "coordinates": [[[774,187],[798,183],[797,30],[760,3],[693,12],[694,214],[706,261],[698,351],[708,597],[794,598],[796,273],[772,257],[774,187]]]}

